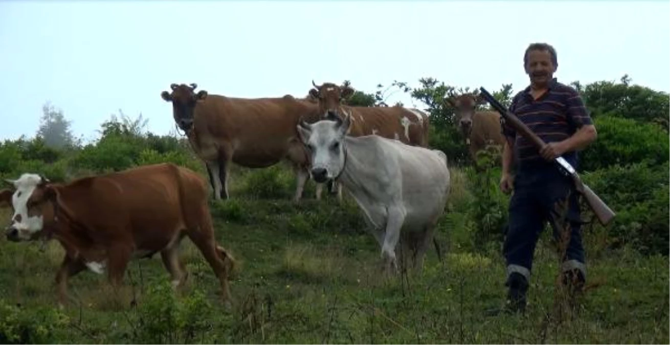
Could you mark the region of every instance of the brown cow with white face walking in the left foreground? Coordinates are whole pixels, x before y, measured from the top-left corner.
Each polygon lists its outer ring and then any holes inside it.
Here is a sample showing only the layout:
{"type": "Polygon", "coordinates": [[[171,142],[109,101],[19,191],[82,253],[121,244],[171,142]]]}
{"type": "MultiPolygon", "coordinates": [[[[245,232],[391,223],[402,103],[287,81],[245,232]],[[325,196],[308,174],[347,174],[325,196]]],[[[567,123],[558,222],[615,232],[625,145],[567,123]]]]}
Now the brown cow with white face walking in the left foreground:
{"type": "Polygon", "coordinates": [[[235,259],[216,244],[207,186],[194,171],[170,163],[145,165],[67,184],[36,174],[11,181],[0,205],[13,206],[7,239],[19,242],[56,238],[66,254],[56,275],[58,301],[66,304],[68,278],[88,268],[103,273],[117,289],[132,259],[160,252],[175,288],[188,273],[178,257],[188,236],[218,277],[230,305],[228,273],[235,259]]]}

